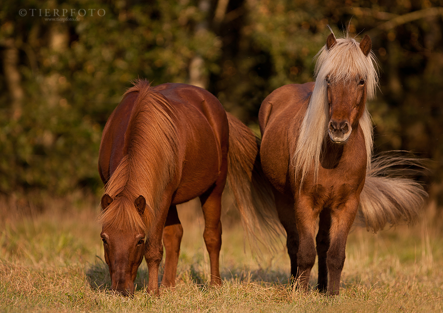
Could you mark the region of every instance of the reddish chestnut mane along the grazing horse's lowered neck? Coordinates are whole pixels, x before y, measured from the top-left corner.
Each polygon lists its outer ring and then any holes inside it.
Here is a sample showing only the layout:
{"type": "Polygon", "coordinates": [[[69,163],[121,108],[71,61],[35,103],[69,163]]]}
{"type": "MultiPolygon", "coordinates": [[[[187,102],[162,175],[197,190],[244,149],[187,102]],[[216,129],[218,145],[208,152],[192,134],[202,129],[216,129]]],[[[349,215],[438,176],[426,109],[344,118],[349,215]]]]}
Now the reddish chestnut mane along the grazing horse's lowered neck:
{"type": "Polygon", "coordinates": [[[105,186],[114,201],[100,216],[100,222],[115,229],[146,230],[158,211],[162,192],[175,174],[177,130],[171,104],[149,82],[137,80],[124,97],[138,92],[125,136],[120,164],[105,186]],[[146,208],[143,218],[134,200],[143,195],[146,208]]]}

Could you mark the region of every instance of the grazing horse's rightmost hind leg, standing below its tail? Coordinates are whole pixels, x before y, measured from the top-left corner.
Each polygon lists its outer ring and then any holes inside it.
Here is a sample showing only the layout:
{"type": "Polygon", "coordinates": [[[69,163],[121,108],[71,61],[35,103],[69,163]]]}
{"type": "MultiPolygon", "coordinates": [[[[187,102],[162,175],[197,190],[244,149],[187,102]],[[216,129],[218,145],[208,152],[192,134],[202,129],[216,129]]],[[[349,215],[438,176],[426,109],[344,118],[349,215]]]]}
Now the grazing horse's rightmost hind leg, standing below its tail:
{"type": "Polygon", "coordinates": [[[220,216],[222,190],[223,188],[215,185],[210,191],[200,196],[201,207],[205,218],[203,238],[211,264],[211,285],[221,285],[219,257],[221,249],[220,216]]]}

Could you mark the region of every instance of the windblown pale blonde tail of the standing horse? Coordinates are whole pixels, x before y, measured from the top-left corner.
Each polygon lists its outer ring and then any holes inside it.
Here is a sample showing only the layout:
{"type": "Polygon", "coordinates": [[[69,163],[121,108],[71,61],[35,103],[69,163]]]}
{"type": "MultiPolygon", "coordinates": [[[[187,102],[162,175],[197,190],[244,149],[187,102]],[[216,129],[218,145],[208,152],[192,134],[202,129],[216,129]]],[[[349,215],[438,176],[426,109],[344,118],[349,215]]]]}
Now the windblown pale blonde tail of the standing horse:
{"type": "Polygon", "coordinates": [[[412,224],[420,216],[427,192],[411,178],[423,169],[423,160],[399,154],[374,157],[360,194],[359,218],[377,232],[391,226],[412,224]]]}

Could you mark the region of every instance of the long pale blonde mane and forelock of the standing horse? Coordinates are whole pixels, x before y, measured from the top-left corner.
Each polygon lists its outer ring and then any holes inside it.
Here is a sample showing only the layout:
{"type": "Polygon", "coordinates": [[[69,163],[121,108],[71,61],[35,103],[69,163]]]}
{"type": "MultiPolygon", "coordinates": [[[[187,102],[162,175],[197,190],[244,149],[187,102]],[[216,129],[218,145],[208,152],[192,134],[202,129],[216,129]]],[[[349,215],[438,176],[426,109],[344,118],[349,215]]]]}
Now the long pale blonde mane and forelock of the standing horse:
{"type": "MultiPolygon", "coordinates": [[[[300,187],[314,162],[314,180],[316,181],[320,162],[320,152],[327,136],[328,99],[325,77],[330,75],[335,80],[361,77],[365,80],[367,99],[374,98],[378,87],[378,67],[372,51],[365,56],[354,38],[338,38],[337,43],[327,49],[326,45],[316,55],[316,84],[309,101],[294,156],[291,164],[296,175],[300,176],[300,187]]],[[[363,130],[367,153],[367,168],[370,168],[373,152],[373,128],[371,116],[365,107],[359,126],[363,130]]]]}

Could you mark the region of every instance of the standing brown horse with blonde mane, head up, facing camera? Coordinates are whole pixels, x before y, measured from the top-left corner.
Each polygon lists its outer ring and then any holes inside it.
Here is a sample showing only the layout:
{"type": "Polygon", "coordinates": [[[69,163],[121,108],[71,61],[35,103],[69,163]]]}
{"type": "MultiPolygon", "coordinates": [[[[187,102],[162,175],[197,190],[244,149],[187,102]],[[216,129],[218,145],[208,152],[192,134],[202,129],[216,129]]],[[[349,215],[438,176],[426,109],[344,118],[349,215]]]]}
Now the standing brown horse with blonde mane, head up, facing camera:
{"type": "Polygon", "coordinates": [[[411,159],[381,157],[371,164],[366,99],[378,85],[371,46],[367,35],[358,44],[331,33],[317,55],[316,81],[275,90],[259,111],[261,164],[286,230],[291,276],[307,289],[318,254],[318,288],[331,295],[339,294],[359,205],[367,227],[377,231],[386,222],[416,219],[426,196],[417,182],[380,176],[411,159]]]}

